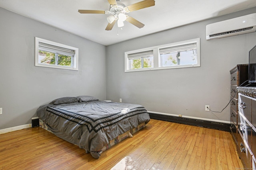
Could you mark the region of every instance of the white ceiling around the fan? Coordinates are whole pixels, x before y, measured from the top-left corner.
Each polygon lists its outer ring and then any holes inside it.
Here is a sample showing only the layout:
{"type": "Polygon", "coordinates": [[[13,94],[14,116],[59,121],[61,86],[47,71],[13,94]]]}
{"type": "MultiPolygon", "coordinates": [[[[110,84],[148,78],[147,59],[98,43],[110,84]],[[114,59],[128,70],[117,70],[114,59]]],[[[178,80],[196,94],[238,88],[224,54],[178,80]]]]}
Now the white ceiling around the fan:
{"type": "MultiPolygon", "coordinates": [[[[142,0],[121,0],[126,6],[142,0]]],[[[0,0],[0,7],[52,25],[102,45],[245,10],[256,0],[156,0],[155,6],[128,13],[145,24],[141,29],[124,22],[111,31],[106,14],[80,14],[78,10],[109,10],[108,0],[0,0]],[[118,34],[118,35],[117,35],[118,34]]]]}

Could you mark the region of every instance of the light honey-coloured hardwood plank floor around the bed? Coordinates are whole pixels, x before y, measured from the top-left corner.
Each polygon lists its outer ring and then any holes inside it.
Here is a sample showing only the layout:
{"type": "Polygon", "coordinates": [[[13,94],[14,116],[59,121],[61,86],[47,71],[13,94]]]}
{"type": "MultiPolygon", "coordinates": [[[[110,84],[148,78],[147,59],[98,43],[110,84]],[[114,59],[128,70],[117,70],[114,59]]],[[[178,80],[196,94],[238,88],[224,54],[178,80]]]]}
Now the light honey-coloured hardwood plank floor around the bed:
{"type": "Polygon", "coordinates": [[[0,170],[108,170],[125,156],[138,170],[243,169],[229,132],[154,119],[99,159],[40,127],[0,135],[0,170]]]}

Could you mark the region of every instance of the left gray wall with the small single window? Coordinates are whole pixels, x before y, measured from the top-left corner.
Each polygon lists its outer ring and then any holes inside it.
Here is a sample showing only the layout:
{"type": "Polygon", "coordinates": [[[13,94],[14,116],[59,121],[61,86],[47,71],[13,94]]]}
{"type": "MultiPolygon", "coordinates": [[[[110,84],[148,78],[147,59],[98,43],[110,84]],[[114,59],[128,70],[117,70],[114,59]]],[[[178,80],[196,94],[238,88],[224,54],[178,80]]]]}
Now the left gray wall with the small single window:
{"type": "Polygon", "coordinates": [[[106,47],[0,8],[0,129],[31,123],[40,105],[78,95],[106,99],[106,47]],[[35,37],[79,48],[79,70],[35,66],[35,37]]]}

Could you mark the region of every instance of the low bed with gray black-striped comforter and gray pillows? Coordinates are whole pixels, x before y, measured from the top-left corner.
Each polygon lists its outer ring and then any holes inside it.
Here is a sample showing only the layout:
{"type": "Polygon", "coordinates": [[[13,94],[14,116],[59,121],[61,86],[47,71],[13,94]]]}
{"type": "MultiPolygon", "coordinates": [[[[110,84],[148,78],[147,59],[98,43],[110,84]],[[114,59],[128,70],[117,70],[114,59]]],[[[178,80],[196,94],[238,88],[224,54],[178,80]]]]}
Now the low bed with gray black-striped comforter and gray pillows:
{"type": "Polygon", "coordinates": [[[40,106],[36,113],[40,127],[97,159],[150,121],[141,105],[100,101],[93,96],[58,98],[40,106]]]}

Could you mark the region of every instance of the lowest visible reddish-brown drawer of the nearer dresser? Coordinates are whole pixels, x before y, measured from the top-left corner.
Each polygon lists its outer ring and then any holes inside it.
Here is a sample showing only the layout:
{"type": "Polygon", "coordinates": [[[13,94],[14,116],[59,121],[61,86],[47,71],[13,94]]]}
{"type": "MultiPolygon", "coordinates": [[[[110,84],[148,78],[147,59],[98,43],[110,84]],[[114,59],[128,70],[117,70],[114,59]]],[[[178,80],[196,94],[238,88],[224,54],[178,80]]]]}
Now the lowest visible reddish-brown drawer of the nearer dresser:
{"type": "Polygon", "coordinates": [[[238,133],[237,135],[237,143],[238,143],[238,152],[241,158],[241,161],[244,164],[244,168],[251,168],[252,167],[252,155],[250,154],[250,151],[246,147],[243,138],[241,134],[238,133]]]}

